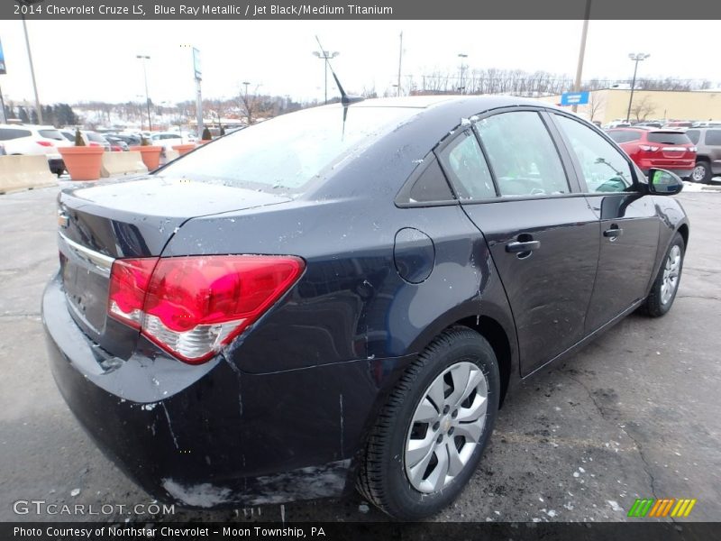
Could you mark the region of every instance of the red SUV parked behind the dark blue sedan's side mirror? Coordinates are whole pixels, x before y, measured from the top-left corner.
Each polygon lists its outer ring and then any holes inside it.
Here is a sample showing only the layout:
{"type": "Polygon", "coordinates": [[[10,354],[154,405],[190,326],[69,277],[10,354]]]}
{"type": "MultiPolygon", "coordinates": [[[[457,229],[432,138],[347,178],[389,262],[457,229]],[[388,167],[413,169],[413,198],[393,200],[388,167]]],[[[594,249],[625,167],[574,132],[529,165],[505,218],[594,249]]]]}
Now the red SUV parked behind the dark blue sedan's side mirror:
{"type": "Polygon", "coordinates": [[[686,133],[646,128],[616,128],[607,133],[644,174],[660,168],[687,179],[696,167],[696,147],[686,133]]]}

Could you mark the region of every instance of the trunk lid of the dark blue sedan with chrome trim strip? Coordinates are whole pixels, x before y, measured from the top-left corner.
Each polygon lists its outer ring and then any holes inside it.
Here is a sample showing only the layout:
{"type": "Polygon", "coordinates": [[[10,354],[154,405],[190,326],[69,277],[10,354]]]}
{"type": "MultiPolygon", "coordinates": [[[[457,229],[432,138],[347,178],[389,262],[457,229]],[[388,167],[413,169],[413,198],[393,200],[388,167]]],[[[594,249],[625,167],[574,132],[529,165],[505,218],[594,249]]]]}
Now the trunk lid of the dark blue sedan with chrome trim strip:
{"type": "MultiPolygon", "coordinates": [[[[58,246],[68,311],[96,344],[127,358],[139,333],[107,316],[115,259],[160,256],[192,217],[289,200],[249,189],[157,178],[61,192],[58,246]]],[[[197,239],[199,247],[203,242],[197,239]]]]}

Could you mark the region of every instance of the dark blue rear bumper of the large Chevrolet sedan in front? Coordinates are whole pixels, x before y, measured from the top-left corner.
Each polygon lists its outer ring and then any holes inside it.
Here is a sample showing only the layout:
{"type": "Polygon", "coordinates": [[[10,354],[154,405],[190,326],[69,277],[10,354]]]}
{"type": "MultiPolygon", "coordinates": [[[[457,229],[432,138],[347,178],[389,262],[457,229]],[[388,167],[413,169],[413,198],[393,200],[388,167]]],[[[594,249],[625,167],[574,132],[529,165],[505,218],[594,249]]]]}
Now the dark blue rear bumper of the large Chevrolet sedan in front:
{"type": "Polygon", "coordinates": [[[114,359],[75,324],[56,278],[42,299],[50,367],[81,425],[145,491],[209,509],[335,497],[408,358],[268,374],[139,344],[114,359]]]}

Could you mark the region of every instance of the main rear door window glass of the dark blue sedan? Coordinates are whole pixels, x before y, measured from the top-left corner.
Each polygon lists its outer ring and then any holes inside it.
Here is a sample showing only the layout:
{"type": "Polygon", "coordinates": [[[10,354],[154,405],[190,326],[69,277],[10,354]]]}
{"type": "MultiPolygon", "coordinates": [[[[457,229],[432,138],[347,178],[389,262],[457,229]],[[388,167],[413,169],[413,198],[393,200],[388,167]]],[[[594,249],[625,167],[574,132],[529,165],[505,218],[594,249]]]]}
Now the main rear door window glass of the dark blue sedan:
{"type": "Polygon", "coordinates": [[[570,193],[561,157],[538,113],[501,113],[476,128],[501,197],[570,193]]]}

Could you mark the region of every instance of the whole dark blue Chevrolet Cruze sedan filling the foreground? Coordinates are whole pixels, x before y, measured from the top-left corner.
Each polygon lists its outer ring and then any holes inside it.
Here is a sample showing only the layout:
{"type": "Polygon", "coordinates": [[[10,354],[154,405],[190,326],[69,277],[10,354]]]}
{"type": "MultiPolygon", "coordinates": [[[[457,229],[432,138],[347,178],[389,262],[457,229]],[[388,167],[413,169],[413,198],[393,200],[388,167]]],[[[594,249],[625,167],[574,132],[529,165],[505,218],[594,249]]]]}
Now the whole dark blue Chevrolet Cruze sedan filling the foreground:
{"type": "Polygon", "coordinates": [[[678,177],[574,115],[415,97],[280,116],[59,196],[59,390],[192,508],[452,501],[512,385],[679,286],[678,177]]]}

